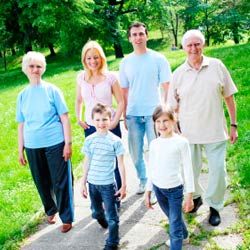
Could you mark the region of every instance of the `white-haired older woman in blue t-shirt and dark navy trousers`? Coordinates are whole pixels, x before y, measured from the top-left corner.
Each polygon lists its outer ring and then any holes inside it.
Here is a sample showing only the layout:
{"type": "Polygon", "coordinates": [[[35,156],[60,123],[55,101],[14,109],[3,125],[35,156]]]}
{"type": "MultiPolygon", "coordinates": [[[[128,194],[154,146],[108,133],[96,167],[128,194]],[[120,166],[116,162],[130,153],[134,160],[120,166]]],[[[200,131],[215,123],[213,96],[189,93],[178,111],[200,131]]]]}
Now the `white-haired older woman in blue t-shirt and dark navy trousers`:
{"type": "Polygon", "coordinates": [[[47,221],[54,224],[59,212],[61,232],[66,233],[73,222],[70,122],[62,92],[42,80],[45,69],[41,53],[24,55],[22,70],[29,85],[17,98],[19,162],[27,163],[25,149],[47,221]]]}

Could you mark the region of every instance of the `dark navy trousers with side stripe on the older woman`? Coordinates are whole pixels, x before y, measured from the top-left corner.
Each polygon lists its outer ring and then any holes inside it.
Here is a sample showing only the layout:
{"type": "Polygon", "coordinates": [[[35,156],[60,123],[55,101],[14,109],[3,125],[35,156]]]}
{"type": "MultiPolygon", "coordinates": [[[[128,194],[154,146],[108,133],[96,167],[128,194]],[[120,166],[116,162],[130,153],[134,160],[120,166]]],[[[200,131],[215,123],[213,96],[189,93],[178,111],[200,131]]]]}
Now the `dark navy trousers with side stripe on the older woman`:
{"type": "Polygon", "coordinates": [[[25,148],[31,174],[45,213],[59,212],[63,223],[74,220],[71,162],[64,161],[64,142],[45,148],[25,148]]]}

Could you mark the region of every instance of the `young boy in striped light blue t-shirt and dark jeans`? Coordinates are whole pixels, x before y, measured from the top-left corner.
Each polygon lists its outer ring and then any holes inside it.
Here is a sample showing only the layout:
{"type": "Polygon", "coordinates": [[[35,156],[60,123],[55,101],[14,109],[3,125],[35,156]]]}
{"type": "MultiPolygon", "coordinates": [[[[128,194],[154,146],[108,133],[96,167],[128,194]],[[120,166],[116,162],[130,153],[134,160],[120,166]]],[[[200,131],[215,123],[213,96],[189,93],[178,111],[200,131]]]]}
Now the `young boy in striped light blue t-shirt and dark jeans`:
{"type": "Polygon", "coordinates": [[[86,183],[88,182],[92,217],[97,219],[103,228],[109,229],[104,250],[113,250],[118,249],[119,244],[119,217],[116,199],[119,195],[120,200],[126,196],[124,148],[121,139],[109,131],[111,122],[109,107],[97,104],[92,110],[92,119],[96,132],[85,139],[81,191],[83,197],[87,198],[86,183]],[[118,191],[116,191],[114,179],[116,157],[122,181],[122,186],[118,191]]]}

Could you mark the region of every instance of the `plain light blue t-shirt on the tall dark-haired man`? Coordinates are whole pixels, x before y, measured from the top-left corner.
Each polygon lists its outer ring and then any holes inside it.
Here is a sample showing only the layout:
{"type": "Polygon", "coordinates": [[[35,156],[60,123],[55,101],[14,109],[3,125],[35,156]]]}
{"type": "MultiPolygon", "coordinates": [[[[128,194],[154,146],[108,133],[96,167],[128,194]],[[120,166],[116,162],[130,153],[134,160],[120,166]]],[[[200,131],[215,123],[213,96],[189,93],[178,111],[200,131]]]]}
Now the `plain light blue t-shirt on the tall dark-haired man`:
{"type": "Polygon", "coordinates": [[[169,82],[171,69],[166,58],[153,50],[129,54],[120,64],[120,84],[129,88],[127,115],[150,116],[160,104],[160,84],[169,82]]]}

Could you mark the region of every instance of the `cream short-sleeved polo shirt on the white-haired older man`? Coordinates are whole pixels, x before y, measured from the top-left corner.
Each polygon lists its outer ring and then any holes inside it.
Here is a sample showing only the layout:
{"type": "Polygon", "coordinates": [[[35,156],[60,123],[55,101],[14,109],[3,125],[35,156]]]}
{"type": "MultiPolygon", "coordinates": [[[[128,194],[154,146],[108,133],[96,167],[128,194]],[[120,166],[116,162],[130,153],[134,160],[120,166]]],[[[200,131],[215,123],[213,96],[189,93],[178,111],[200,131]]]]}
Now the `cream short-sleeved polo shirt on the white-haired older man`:
{"type": "Polygon", "coordinates": [[[175,70],[168,105],[177,108],[178,95],[181,131],[191,144],[215,143],[228,139],[223,99],[236,92],[225,65],[203,56],[199,70],[187,61],[175,70]]]}

